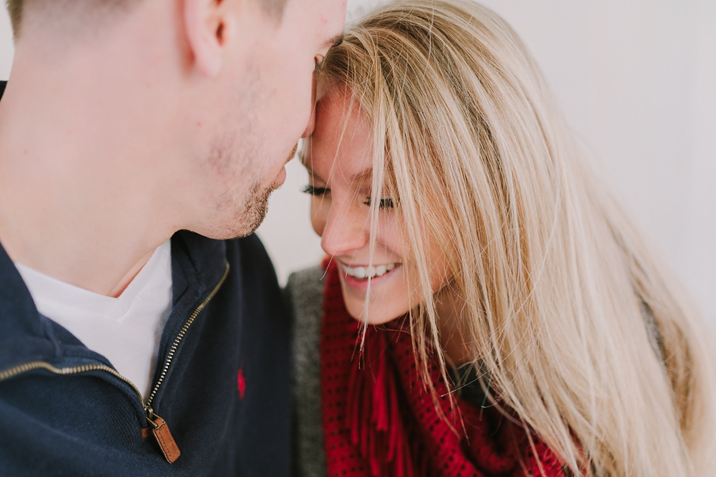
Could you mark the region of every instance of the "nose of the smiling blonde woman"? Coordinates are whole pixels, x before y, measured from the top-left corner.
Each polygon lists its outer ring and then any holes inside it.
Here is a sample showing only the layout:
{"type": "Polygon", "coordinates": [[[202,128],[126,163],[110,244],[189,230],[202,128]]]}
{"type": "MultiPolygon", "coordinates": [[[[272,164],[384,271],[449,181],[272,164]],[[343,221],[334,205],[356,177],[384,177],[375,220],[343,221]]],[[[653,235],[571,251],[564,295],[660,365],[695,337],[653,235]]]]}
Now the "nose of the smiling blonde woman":
{"type": "Polygon", "coordinates": [[[334,203],[327,217],[326,227],[321,235],[321,247],[331,256],[352,254],[368,245],[368,215],[360,210],[360,207],[336,205],[334,203]]]}

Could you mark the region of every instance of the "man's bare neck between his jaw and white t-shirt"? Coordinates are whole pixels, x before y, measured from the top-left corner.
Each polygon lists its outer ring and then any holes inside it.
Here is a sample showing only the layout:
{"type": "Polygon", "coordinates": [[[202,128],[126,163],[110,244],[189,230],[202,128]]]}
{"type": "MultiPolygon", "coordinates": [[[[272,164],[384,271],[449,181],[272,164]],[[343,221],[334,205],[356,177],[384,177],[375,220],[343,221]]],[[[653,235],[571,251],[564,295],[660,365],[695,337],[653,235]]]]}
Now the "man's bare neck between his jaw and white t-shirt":
{"type": "Polygon", "coordinates": [[[116,296],[183,224],[156,165],[173,151],[150,125],[163,120],[142,101],[152,92],[111,68],[73,74],[83,54],[45,71],[16,56],[0,102],[0,242],[15,262],[116,296]]]}

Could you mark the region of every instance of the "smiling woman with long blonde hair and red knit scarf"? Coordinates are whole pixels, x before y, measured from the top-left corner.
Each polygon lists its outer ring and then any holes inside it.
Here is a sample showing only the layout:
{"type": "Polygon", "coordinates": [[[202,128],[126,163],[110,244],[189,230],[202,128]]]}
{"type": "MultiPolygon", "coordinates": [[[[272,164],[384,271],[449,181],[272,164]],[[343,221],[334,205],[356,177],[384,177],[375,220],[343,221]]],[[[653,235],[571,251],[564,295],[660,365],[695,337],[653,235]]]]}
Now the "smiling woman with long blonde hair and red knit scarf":
{"type": "Polygon", "coordinates": [[[302,154],[330,258],[289,280],[297,473],[711,475],[707,333],[514,31],[400,1],[319,79],[302,154]]]}

